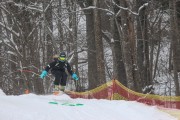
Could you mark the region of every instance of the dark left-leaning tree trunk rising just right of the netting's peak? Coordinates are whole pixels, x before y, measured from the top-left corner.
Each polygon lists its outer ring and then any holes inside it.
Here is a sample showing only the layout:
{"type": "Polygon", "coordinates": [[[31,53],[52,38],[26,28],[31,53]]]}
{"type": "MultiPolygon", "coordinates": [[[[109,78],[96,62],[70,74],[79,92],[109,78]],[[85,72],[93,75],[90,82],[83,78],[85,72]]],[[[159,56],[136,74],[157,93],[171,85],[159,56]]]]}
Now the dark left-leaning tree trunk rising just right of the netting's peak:
{"type": "MultiPolygon", "coordinates": [[[[116,4],[119,5],[119,2],[116,0],[116,4]]],[[[119,8],[114,6],[113,10],[116,14],[119,11],[119,8]]],[[[111,34],[113,36],[113,41],[111,41],[112,46],[112,55],[113,55],[113,78],[117,79],[124,86],[127,86],[126,71],[124,67],[124,61],[122,58],[122,40],[120,37],[120,28],[121,23],[120,16],[111,17],[111,34]]]]}

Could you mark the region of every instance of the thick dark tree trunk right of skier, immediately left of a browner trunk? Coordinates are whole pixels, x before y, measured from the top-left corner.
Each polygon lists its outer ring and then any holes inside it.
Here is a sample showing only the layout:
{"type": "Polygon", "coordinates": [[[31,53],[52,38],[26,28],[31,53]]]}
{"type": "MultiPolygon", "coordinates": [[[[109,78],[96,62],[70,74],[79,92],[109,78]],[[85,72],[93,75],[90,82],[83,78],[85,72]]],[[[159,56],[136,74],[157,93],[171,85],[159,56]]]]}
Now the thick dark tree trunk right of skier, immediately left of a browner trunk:
{"type": "MultiPolygon", "coordinates": [[[[88,1],[87,6],[92,6],[93,1],[88,1]]],[[[85,7],[81,4],[81,7],[85,7]]],[[[87,9],[84,10],[86,16],[86,38],[88,46],[88,81],[89,89],[96,88],[97,86],[97,60],[96,60],[96,46],[95,46],[95,33],[94,33],[94,16],[93,10],[87,9]]]]}

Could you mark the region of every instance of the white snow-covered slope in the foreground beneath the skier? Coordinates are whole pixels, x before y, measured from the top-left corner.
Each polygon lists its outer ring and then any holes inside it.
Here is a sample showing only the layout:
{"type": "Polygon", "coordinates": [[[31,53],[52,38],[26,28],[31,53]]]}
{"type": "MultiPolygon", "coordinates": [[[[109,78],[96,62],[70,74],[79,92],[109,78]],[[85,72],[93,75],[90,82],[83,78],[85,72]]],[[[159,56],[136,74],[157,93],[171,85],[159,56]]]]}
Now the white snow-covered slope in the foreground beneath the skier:
{"type": "Polygon", "coordinates": [[[68,95],[6,96],[0,90],[0,120],[176,120],[135,101],[72,99],[68,95]],[[50,104],[49,102],[58,102],[50,104]],[[64,102],[81,103],[82,106],[66,106],[64,102]]]}

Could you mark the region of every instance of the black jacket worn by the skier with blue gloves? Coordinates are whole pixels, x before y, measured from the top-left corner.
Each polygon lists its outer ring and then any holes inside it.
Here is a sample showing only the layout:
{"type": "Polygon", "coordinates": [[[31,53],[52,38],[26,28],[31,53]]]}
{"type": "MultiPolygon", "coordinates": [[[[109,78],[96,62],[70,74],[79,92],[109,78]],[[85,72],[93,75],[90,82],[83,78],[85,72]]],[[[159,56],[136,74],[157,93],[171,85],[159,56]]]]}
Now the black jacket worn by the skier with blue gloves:
{"type": "Polygon", "coordinates": [[[73,71],[67,61],[61,62],[59,60],[54,60],[53,62],[49,63],[48,66],[46,66],[45,70],[48,72],[51,69],[52,73],[53,73],[53,71],[65,72],[66,68],[67,68],[67,71],[69,72],[69,74],[72,75],[73,71]]]}

